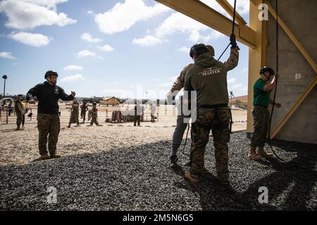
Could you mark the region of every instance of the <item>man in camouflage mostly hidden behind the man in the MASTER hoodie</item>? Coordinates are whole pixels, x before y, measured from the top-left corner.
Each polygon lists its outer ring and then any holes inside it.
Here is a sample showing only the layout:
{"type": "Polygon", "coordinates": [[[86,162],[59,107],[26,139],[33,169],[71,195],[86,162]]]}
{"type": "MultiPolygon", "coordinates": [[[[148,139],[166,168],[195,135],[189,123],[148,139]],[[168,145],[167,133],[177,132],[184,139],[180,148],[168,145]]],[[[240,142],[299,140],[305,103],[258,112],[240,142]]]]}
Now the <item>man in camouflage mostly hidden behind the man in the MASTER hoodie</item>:
{"type": "MultiPolygon", "coordinates": [[[[211,56],[215,56],[215,51],[212,46],[206,45],[206,48],[208,49],[208,52],[211,56]]],[[[230,52],[230,56],[227,61],[225,61],[226,68],[232,68],[235,63],[237,63],[237,60],[239,58],[239,52],[237,49],[232,48],[230,52]]],[[[178,92],[184,87],[185,82],[185,75],[187,71],[194,66],[194,63],[190,63],[189,65],[186,65],[185,68],[182,69],[180,72],[180,75],[174,82],[172,89],[167,94],[167,98],[173,98],[175,99],[175,96],[178,94],[178,92]],[[171,97],[170,97],[171,96],[171,97]]],[[[182,107],[181,103],[178,104],[178,107],[182,107]]],[[[178,112],[181,112],[181,109],[178,108],[178,112]]],[[[180,148],[180,143],[182,142],[182,137],[184,136],[184,132],[187,127],[187,123],[183,122],[184,115],[182,113],[178,114],[177,121],[176,121],[176,127],[175,131],[173,133],[173,143],[172,143],[172,153],[170,155],[170,164],[172,166],[177,165],[178,157],[177,152],[178,148],[180,148]]]]}

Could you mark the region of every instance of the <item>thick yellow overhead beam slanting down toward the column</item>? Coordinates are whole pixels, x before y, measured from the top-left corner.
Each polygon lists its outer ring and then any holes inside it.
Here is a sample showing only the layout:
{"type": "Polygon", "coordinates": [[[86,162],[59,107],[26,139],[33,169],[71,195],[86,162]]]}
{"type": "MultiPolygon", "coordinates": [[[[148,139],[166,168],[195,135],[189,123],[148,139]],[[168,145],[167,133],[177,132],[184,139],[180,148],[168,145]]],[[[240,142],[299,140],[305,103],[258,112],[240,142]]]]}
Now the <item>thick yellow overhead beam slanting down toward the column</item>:
{"type": "MultiPolygon", "coordinates": [[[[226,18],[221,13],[218,13],[213,8],[198,0],[156,0],[175,11],[193,18],[194,20],[203,23],[204,25],[217,30],[227,36],[232,32],[232,20],[226,18]]],[[[247,25],[235,24],[235,36],[237,41],[246,44],[255,49],[255,32],[247,25]]]]}

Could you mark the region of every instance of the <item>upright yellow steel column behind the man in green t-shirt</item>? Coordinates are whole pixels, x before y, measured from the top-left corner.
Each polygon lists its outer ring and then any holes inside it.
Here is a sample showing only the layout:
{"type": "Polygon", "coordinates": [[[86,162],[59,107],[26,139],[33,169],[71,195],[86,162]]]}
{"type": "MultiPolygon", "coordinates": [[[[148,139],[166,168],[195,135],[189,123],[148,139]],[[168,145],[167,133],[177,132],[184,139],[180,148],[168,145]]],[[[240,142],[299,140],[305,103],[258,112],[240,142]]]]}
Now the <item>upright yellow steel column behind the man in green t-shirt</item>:
{"type": "Polygon", "coordinates": [[[259,79],[259,71],[266,63],[266,21],[259,20],[259,4],[262,0],[250,1],[250,28],[256,32],[256,48],[249,48],[249,80],[248,80],[248,112],[247,112],[247,132],[253,132],[253,84],[259,79]]]}

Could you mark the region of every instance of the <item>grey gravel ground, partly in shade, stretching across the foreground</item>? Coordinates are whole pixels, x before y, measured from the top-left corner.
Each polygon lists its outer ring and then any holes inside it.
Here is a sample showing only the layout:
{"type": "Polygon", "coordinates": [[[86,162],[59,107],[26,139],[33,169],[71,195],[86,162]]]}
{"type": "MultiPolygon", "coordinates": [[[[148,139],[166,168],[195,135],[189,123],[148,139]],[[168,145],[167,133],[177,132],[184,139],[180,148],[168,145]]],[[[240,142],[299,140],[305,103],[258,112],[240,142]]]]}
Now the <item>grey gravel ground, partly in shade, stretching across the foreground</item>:
{"type": "Polygon", "coordinates": [[[0,210],[317,210],[316,145],[275,141],[286,162],[254,162],[247,160],[249,141],[239,131],[229,145],[231,188],[216,181],[212,141],[205,155],[209,172],[191,186],[183,177],[186,155],[179,152],[178,169],[168,164],[173,127],[155,132],[151,127],[107,127],[111,136],[103,128],[94,127],[99,136],[91,141],[85,133],[78,140],[77,132],[84,130],[73,128],[67,142],[61,135],[63,158],[30,163],[37,144],[32,134],[25,141],[34,152],[20,165],[8,158],[0,167],[0,210]],[[47,203],[50,186],[57,190],[56,204],[47,203]],[[261,186],[268,188],[268,204],[258,201],[261,186]]]}

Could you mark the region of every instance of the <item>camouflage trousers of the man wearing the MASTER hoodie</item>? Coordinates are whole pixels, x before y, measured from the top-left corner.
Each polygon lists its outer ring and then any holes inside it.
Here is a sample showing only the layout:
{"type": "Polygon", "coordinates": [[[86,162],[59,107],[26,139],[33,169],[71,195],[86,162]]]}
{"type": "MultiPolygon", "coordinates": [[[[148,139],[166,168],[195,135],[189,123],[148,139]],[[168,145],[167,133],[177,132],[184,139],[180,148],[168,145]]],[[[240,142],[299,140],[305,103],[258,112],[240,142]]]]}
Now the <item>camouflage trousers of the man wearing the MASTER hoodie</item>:
{"type": "Polygon", "coordinates": [[[205,148],[209,141],[209,133],[212,131],[217,176],[221,181],[228,181],[229,122],[229,108],[216,108],[199,112],[196,122],[192,124],[192,151],[190,153],[192,161],[190,172],[192,175],[199,177],[203,172],[205,148]]]}

